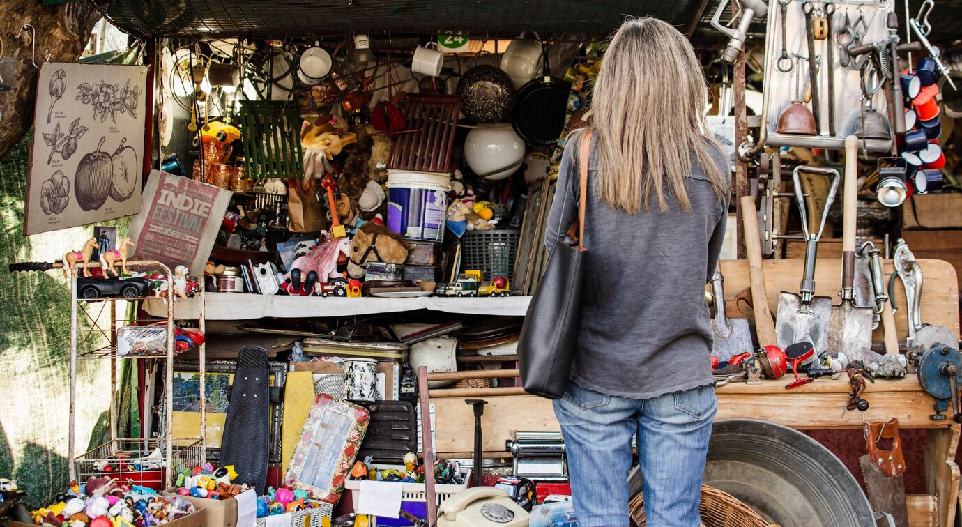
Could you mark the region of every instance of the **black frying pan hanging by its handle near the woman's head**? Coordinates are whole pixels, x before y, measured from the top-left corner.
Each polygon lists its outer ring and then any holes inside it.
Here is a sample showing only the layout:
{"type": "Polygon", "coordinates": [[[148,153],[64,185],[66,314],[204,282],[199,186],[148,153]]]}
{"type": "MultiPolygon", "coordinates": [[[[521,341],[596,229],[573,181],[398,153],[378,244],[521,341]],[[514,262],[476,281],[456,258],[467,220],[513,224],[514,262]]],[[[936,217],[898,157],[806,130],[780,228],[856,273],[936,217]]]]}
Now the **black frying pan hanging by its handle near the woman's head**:
{"type": "Polygon", "coordinates": [[[511,126],[525,142],[550,146],[565,128],[565,113],[571,86],[551,76],[547,61],[547,42],[542,46],[544,75],[524,83],[516,96],[511,126]]]}

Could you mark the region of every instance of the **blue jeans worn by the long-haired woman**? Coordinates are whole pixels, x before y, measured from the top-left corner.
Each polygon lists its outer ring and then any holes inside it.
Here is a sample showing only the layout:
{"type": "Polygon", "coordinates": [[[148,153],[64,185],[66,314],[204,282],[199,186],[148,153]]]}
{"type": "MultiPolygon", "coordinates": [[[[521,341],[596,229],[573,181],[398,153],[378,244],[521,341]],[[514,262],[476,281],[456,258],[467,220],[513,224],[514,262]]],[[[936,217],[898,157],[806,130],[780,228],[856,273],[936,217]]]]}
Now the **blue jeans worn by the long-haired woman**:
{"type": "Polygon", "coordinates": [[[697,527],[715,389],[636,400],[570,382],[554,401],[579,527],[628,527],[631,438],[638,434],[648,527],[697,527]]]}

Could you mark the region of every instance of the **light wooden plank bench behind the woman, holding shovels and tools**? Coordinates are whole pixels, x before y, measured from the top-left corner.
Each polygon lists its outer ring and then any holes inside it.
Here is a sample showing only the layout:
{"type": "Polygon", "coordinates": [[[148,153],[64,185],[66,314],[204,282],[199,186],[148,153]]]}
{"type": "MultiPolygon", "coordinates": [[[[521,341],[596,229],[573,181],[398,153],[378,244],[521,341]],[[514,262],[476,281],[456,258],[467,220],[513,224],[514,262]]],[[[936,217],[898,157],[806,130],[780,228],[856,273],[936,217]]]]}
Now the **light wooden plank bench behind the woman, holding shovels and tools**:
{"type": "MultiPolygon", "coordinates": [[[[946,326],[958,336],[958,286],[955,271],[950,264],[938,260],[920,260],[923,267],[924,289],[922,319],[924,323],[946,326]]],[[[746,261],[722,261],[725,290],[731,297],[747,288],[748,265],[746,261]]],[[[782,290],[797,291],[801,276],[800,261],[766,261],[765,282],[767,298],[772,313],[778,306],[782,290]]],[[[885,261],[886,277],[892,273],[891,261],[885,261]]],[[[829,296],[837,301],[841,289],[841,262],[820,260],[816,266],[816,294],[829,296]]],[[[896,286],[896,303],[899,312],[896,324],[899,339],[907,333],[905,319],[905,296],[900,281],[896,286]]],[[[881,340],[881,328],[874,337],[881,340]]],[[[681,367],[681,366],[679,366],[681,367]]],[[[814,383],[797,389],[785,389],[791,373],[778,381],[763,381],[760,385],[732,383],[717,390],[719,419],[756,418],[780,423],[792,428],[813,429],[859,429],[863,415],[842,409],[848,400],[848,380],[817,379],[814,383]]],[[[938,518],[937,525],[954,524],[958,501],[959,469],[954,463],[959,442],[959,426],[950,420],[936,421],[929,418],[933,413],[934,400],[919,386],[914,375],[899,380],[877,380],[869,383],[863,397],[869,401],[865,420],[882,420],[898,417],[902,429],[927,429],[928,444],[925,447],[925,477],[928,494],[913,495],[909,499],[912,525],[932,525],[930,519],[938,518]],[[937,509],[937,513],[936,513],[937,509]],[[927,519],[926,519],[927,518],[927,519]]],[[[465,404],[467,397],[433,398],[437,416],[437,443],[439,454],[464,457],[473,448],[474,414],[465,404]]],[[[551,401],[532,395],[487,397],[482,425],[484,427],[483,449],[490,457],[504,457],[505,441],[514,439],[515,431],[557,432],[560,430],[551,401]]],[[[950,418],[950,417],[949,417],[950,418]]]]}

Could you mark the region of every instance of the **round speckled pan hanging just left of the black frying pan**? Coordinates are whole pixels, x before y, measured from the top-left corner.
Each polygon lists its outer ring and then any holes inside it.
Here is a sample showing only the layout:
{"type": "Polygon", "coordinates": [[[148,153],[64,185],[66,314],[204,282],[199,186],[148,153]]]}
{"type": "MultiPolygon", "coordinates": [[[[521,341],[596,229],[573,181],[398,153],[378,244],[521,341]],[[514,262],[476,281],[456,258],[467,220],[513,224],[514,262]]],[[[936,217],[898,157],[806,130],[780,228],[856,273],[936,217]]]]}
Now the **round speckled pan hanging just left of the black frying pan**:
{"type": "Polygon", "coordinates": [[[494,64],[478,65],[477,58],[485,54],[482,51],[474,56],[474,66],[461,76],[456,90],[461,111],[478,124],[503,121],[515,107],[514,81],[494,64]]]}

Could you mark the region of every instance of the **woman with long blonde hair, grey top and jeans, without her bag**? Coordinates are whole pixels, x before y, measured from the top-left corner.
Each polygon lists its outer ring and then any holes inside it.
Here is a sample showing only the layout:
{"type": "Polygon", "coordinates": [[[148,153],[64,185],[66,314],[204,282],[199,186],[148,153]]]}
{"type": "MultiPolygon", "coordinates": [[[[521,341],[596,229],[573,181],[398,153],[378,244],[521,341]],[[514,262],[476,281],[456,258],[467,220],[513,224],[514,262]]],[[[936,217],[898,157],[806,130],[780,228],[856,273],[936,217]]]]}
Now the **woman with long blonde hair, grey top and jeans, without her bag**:
{"type": "Polygon", "coordinates": [[[655,18],[624,22],[604,55],[590,125],[561,163],[545,244],[578,214],[588,163],[588,249],[577,351],[554,402],[578,525],[627,527],[638,436],[649,527],[697,526],[717,410],[704,286],[724,238],[730,169],[707,132],[691,43],[655,18]],[[590,159],[577,159],[592,134],[590,159]]]}

